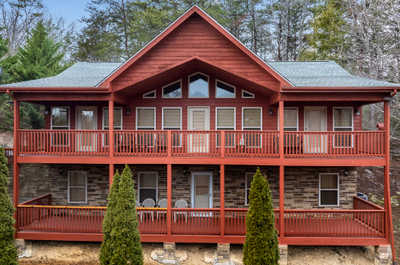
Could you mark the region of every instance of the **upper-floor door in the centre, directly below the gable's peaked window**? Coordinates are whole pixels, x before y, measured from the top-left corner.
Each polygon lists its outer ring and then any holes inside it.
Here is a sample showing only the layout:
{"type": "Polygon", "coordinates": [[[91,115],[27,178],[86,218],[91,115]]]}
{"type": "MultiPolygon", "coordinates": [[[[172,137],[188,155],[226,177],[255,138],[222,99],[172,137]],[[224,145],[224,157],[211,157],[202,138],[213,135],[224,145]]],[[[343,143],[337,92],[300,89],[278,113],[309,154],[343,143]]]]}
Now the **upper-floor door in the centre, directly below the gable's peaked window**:
{"type": "Polygon", "coordinates": [[[207,153],[209,150],[209,134],[202,132],[210,129],[210,110],[207,107],[188,108],[188,152],[207,153]]]}

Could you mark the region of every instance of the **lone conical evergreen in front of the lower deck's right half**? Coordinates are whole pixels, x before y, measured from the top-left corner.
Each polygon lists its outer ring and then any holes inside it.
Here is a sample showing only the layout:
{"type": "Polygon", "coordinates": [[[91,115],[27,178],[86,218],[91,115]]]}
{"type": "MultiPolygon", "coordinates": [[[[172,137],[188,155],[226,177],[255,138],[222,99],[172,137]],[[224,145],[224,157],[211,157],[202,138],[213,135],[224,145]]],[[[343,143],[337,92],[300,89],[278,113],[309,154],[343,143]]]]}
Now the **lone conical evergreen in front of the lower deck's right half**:
{"type": "Polygon", "coordinates": [[[268,181],[257,169],[250,186],[243,264],[278,265],[278,236],[268,181]]]}

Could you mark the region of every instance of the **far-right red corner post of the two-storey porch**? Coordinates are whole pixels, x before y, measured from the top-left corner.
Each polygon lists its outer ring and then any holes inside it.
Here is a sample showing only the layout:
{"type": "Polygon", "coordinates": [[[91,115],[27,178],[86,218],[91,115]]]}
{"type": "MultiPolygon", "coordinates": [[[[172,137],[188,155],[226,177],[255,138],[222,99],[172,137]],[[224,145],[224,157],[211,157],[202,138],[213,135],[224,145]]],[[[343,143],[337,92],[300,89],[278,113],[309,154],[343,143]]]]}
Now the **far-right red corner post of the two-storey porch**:
{"type": "Polygon", "coordinates": [[[392,222],[392,204],[390,196],[390,101],[384,102],[385,111],[385,176],[384,176],[384,200],[386,213],[386,238],[392,246],[392,255],[395,257],[393,222],[392,222]]]}

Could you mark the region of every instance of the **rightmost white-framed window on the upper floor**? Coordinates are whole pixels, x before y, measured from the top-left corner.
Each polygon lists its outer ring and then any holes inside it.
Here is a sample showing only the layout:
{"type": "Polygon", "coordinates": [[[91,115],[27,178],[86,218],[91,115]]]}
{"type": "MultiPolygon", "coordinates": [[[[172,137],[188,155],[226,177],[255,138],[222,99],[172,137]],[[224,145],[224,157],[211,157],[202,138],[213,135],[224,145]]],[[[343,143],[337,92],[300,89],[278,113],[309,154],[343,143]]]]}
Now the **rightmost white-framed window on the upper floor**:
{"type": "MultiPolygon", "coordinates": [[[[353,108],[333,108],[333,130],[337,132],[353,131],[353,108]]],[[[352,147],[353,136],[350,133],[335,134],[335,147],[352,147]]]]}

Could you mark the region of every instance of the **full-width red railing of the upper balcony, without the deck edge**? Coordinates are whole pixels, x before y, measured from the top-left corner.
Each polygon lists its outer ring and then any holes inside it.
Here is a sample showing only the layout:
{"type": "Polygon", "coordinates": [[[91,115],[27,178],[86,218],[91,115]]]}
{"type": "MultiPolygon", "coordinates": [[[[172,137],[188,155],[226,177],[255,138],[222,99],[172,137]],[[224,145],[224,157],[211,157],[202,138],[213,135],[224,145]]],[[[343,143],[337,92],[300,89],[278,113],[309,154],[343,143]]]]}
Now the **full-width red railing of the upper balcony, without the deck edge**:
{"type": "MultiPolygon", "coordinates": [[[[384,131],[284,132],[284,156],[383,157],[384,131]]],[[[19,155],[107,156],[107,130],[18,130],[19,155]]],[[[279,131],[115,130],[114,155],[277,158],[279,131]]]]}

